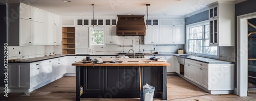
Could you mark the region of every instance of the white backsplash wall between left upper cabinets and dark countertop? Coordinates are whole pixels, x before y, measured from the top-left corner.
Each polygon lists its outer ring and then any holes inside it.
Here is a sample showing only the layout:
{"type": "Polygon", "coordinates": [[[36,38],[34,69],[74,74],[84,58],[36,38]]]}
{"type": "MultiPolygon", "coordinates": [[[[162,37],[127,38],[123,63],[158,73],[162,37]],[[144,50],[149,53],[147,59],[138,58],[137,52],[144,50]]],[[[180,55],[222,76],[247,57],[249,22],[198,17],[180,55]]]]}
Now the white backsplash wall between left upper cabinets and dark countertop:
{"type": "Polygon", "coordinates": [[[61,45],[52,45],[52,46],[9,46],[8,47],[8,58],[9,59],[26,59],[26,58],[33,58],[33,57],[41,57],[61,54],[61,45]],[[20,52],[20,54],[19,54],[20,52]]]}

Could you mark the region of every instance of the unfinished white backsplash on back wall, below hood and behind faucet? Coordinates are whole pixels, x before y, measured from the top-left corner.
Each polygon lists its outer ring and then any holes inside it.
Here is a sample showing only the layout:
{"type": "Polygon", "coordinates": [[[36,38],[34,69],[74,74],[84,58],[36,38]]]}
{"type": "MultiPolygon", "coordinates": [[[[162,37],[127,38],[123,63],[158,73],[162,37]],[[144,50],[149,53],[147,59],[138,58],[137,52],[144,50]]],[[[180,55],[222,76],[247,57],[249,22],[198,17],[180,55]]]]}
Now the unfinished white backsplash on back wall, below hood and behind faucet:
{"type": "Polygon", "coordinates": [[[141,53],[176,53],[179,48],[183,48],[183,45],[144,45],[143,36],[119,36],[118,45],[91,46],[90,54],[117,54],[120,52],[128,52],[130,49],[133,49],[134,52],[141,53]],[[119,47],[119,45],[132,45],[133,47],[119,47]],[[155,50],[152,50],[154,48],[155,50]]]}

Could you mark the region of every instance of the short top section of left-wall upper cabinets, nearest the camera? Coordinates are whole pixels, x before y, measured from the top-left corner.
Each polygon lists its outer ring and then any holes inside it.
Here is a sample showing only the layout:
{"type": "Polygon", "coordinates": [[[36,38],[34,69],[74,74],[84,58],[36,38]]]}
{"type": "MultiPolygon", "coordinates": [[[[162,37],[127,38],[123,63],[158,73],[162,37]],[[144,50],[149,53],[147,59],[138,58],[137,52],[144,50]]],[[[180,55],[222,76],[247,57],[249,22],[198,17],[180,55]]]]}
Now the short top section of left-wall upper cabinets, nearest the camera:
{"type": "Polygon", "coordinates": [[[44,22],[44,13],[33,10],[32,8],[28,9],[23,5],[19,8],[19,16],[20,18],[37,21],[37,22],[44,22]]]}

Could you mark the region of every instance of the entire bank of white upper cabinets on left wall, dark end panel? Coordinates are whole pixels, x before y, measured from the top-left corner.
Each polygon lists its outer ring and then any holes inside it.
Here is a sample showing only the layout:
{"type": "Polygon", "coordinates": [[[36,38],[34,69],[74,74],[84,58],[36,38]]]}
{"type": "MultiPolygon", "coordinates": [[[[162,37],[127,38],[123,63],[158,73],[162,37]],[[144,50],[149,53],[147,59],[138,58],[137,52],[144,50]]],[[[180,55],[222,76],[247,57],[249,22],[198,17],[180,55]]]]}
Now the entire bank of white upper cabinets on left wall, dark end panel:
{"type": "Polygon", "coordinates": [[[26,4],[17,3],[7,7],[7,17],[13,18],[13,9],[19,8],[17,19],[8,23],[9,46],[59,45],[59,16],[26,4]]]}

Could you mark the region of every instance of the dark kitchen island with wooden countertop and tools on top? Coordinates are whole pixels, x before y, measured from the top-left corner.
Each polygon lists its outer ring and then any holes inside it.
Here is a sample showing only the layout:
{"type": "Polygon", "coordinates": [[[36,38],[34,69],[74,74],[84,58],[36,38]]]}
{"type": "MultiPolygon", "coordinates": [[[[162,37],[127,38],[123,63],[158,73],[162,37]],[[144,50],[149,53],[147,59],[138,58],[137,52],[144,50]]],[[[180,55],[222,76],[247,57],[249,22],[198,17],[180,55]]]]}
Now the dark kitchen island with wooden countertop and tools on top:
{"type": "MultiPolygon", "coordinates": [[[[112,61],[115,59],[102,59],[112,61]]],[[[167,99],[167,62],[122,59],[122,63],[76,62],[76,100],[80,98],[139,98],[142,86],[155,88],[154,98],[167,99]],[[80,93],[82,86],[82,93],[80,93]],[[141,87],[141,88],[140,88],[141,87]]]]}

